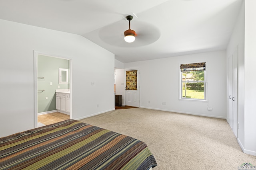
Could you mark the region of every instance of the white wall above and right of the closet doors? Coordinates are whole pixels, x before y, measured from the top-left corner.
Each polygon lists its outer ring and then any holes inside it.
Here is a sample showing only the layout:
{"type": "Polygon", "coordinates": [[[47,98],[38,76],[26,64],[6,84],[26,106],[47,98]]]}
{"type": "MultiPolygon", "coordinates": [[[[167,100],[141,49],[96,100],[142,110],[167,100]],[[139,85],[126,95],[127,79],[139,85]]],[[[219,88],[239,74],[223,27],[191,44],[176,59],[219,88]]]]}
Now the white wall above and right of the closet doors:
{"type": "MultiPolygon", "coordinates": [[[[236,47],[238,47],[238,141],[240,145],[244,147],[244,2],[239,12],[232,36],[228,43],[228,47],[226,50],[227,61],[228,57],[232,55],[236,47]]],[[[228,80],[228,74],[226,76],[228,80]]],[[[226,96],[228,96],[228,94],[226,96]]]]}

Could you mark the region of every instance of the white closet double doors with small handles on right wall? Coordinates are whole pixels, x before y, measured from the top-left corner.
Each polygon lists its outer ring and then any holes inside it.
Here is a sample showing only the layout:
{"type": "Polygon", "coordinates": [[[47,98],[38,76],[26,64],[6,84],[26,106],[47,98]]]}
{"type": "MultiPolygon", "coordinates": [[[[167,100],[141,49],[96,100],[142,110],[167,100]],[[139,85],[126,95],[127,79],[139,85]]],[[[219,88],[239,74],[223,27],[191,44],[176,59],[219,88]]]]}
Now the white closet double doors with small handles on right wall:
{"type": "Polygon", "coordinates": [[[228,123],[235,136],[238,137],[238,115],[237,115],[237,60],[238,51],[234,50],[228,59],[228,123]]]}

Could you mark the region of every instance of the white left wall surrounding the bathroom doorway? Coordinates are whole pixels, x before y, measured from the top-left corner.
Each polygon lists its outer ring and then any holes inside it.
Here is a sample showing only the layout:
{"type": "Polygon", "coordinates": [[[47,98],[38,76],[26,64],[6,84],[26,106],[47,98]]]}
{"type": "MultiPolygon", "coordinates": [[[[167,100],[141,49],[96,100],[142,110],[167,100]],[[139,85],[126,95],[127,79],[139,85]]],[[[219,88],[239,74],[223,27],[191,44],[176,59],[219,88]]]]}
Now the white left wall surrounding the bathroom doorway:
{"type": "Polygon", "coordinates": [[[114,109],[114,54],[80,35],[0,25],[0,137],[34,128],[34,50],[72,60],[73,119],[114,109]]]}

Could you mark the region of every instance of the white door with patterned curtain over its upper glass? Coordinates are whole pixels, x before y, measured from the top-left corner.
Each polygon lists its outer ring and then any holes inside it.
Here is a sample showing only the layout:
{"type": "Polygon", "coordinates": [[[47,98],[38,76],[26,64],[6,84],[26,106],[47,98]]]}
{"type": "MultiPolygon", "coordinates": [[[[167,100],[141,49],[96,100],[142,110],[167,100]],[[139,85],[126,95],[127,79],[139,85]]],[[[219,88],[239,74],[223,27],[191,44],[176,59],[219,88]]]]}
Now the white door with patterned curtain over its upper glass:
{"type": "Polygon", "coordinates": [[[140,107],[139,70],[125,70],[125,105],[140,107]]]}

